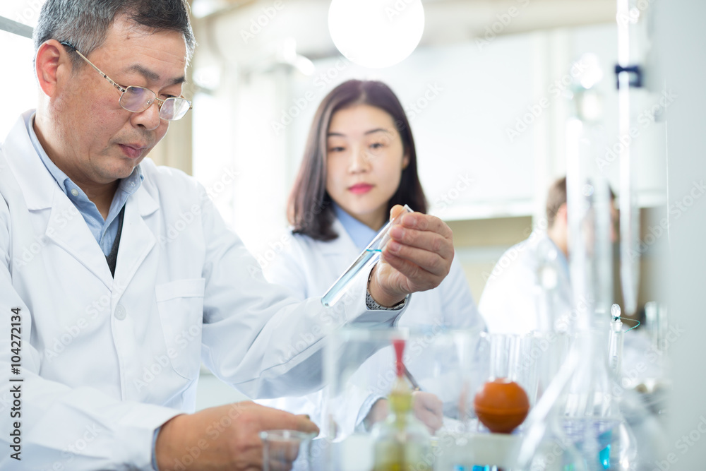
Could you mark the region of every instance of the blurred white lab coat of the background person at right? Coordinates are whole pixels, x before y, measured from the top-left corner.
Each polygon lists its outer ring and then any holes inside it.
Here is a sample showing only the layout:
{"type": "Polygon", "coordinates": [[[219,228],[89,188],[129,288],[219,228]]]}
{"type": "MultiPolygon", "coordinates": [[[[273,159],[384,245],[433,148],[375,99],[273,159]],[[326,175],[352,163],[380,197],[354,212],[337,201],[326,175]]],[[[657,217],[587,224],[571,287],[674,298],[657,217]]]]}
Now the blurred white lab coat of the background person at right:
{"type": "Polygon", "coordinates": [[[531,330],[571,330],[567,326],[573,294],[566,258],[544,232],[510,247],[488,275],[478,309],[491,333],[524,334],[531,330]],[[542,291],[544,284],[554,286],[542,291]],[[549,299],[547,299],[549,297],[549,299]],[[546,307],[545,307],[546,306],[546,307]],[[555,326],[549,316],[551,310],[555,326]]]}

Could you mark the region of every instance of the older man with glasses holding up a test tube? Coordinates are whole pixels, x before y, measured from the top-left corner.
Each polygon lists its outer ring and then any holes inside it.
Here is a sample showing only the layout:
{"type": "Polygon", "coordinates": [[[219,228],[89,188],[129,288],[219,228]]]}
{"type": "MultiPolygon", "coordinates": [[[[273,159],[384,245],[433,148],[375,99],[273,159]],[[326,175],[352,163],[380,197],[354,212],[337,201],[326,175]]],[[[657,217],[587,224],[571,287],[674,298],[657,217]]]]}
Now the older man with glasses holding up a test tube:
{"type": "Polygon", "coordinates": [[[253,398],[308,392],[313,333],[390,325],[448,273],[450,229],[418,213],[335,309],[253,273],[203,186],[145,159],[191,109],[194,44],[184,0],[42,8],[39,105],[0,147],[3,470],[258,469],[258,431],[316,426],[253,403],[194,413],[201,361],[253,398]]]}

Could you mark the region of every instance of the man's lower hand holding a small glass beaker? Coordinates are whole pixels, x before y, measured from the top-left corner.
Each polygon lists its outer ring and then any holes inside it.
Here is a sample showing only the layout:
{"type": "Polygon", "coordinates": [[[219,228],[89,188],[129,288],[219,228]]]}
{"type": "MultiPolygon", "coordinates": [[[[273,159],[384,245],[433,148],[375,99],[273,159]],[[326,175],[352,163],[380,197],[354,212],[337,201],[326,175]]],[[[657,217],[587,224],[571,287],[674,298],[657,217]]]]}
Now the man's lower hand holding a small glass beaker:
{"type": "Polygon", "coordinates": [[[160,471],[261,470],[263,430],[318,432],[303,415],[251,402],[177,415],[162,425],[155,454],[160,471]]]}

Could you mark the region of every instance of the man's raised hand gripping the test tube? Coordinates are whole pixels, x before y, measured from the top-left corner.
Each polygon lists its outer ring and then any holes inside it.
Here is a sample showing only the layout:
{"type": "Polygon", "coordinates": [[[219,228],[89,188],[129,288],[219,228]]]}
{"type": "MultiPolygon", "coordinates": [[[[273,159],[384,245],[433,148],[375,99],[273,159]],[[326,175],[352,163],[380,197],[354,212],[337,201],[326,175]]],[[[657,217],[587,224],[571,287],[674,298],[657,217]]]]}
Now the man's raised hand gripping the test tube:
{"type": "MultiPolygon", "coordinates": [[[[394,220],[404,208],[390,210],[394,220]]],[[[381,306],[394,306],[409,293],[431,290],[448,275],[453,234],[438,217],[406,213],[390,227],[390,242],[373,268],[369,290],[381,306]]]]}

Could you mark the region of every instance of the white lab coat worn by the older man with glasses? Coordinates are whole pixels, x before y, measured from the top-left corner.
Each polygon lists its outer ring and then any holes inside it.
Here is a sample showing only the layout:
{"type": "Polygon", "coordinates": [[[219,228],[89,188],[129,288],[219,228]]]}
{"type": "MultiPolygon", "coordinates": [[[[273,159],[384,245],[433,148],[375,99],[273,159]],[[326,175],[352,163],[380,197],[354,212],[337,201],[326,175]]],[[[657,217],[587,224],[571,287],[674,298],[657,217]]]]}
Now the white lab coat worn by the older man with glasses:
{"type": "Polygon", "coordinates": [[[338,309],[287,297],[265,281],[203,187],[149,159],[125,205],[112,277],[30,143],[31,114],[0,147],[1,469],[151,469],[153,431],[193,411],[202,359],[251,397],[311,390],[324,327],[391,325],[400,314],[367,311],[366,280],[338,309]],[[21,318],[18,375],[12,308],[21,318]],[[21,461],[9,456],[8,385],[21,388],[13,419],[21,461]]]}

